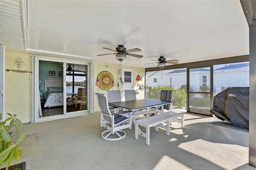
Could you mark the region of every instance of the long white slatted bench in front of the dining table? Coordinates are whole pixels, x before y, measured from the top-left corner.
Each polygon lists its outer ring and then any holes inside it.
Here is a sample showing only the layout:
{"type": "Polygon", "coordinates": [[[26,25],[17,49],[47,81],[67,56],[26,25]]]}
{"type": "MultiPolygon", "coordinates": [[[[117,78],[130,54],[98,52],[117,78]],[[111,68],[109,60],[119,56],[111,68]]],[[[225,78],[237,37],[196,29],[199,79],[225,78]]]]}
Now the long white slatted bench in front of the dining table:
{"type": "Polygon", "coordinates": [[[155,126],[155,130],[158,131],[158,126],[166,129],[166,134],[170,135],[170,125],[172,121],[181,123],[181,128],[184,127],[184,114],[175,112],[166,112],[160,115],[154,115],[135,121],[135,138],[138,139],[138,134],[146,138],[146,144],[149,145],[150,132],[149,129],[155,126]],[[181,117],[181,120],[176,118],[181,117]],[[170,123],[171,121],[171,123],[170,123]],[[160,123],[166,122],[166,126],[160,125],[160,123]],[[146,133],[142,132],[138,126],[146,128],[146,133]]]}

